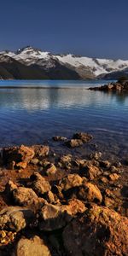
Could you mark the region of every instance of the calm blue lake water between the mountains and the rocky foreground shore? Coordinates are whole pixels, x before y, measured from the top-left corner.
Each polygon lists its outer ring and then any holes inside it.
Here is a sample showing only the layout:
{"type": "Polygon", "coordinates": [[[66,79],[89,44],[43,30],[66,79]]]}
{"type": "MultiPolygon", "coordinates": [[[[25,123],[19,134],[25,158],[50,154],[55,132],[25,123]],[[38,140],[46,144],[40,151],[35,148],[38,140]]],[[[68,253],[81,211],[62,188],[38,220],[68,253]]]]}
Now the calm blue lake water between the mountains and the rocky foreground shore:
{"type": "Polygon", "coordinates": [[[0,147],[88,131],[99,150],[126,155],[128,95],[86,90],[106,83],[0,81],[0,147]]]}

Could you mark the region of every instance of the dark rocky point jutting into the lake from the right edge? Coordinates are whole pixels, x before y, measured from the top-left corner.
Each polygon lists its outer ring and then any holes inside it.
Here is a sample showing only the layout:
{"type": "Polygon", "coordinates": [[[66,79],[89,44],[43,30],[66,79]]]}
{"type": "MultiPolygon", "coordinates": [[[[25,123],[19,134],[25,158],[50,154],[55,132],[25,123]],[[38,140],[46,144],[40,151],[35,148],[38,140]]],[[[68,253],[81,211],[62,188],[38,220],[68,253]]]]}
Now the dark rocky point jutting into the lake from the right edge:
{"type": "Polygon", "coordinates": [[[128,80],[109,83],[100,87],[90,87],[89,90],[102,90],[102,91],[128,91],[128,80]]]}

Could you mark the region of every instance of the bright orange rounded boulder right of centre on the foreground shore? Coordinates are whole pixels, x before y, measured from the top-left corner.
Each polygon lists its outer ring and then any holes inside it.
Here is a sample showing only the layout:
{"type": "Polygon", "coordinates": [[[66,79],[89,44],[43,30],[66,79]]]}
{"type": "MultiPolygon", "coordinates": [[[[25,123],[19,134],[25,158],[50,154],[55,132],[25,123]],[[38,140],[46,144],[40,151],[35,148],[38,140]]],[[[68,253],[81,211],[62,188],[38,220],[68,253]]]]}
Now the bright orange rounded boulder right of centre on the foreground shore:
{"type": "Polygon", "coordinates": [[[78,197],[88,202],[102,202],[102,193],[96,184],[93,183],[84,183],[83,186],[79,187],[78,197]]]}

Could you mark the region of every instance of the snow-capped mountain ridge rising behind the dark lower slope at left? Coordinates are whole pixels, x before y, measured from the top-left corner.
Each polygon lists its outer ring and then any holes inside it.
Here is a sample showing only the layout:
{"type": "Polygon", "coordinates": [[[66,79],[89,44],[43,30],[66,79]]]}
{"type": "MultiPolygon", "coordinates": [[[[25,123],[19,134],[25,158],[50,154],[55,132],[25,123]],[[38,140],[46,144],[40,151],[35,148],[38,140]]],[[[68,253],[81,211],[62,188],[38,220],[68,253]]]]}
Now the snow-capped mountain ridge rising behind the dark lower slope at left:
{"type": "Polygon", "coordinates": [[[32,46],[18,49],[16,52],[0,52],[0,67],[3,66],[4,57],[6,61],[9,58],[9,62],[10,60],[17,61],[15,63],[38,70],[39,73],[44,73],[44,77],[48,79],[98,79],[104,76],[110,78],[112,73],[118,76],[119,73],[125,73],[128,68],[128,61],[89,58],[71,54],[54,55],[32,48],[32,46]]]}

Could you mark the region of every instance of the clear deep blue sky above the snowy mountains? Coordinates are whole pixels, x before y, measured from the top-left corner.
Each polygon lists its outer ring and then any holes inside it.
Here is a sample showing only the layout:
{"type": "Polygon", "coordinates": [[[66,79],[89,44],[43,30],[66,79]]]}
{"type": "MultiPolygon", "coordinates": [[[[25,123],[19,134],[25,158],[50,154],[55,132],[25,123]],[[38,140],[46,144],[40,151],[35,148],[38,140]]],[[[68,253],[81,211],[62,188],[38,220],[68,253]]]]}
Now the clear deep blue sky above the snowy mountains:
{"type": "Polygon", "coordinates": [[[0,50],[128,59],[127,0],[2,0],[0,50]]]}

